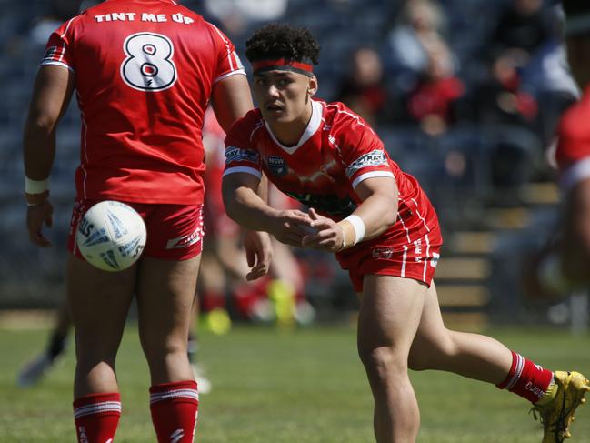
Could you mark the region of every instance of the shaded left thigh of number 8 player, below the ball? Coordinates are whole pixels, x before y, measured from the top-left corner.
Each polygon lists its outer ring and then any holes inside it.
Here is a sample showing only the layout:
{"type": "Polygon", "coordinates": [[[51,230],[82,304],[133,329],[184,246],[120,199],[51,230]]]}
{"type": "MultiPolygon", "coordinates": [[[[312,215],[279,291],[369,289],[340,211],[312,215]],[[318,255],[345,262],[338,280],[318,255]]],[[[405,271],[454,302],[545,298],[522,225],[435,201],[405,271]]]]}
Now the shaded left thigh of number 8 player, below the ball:
{"type": "Polygon", "coordinates": [[[82,350],[113,352],[118,347],[134,295],[136,265],[106,272],[70,254],[67,300],[82,350]]]}

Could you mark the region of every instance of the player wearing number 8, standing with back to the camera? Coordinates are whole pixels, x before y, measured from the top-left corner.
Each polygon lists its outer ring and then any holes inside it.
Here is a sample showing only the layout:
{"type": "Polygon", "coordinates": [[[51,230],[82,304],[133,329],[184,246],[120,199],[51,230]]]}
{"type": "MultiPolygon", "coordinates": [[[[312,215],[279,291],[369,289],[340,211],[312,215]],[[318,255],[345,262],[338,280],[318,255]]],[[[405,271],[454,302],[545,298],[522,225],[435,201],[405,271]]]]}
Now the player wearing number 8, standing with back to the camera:
{"type": "MultiPolygon", "coordinates": [[[[61,25],[47,43],[25,122],[26,226],[38,247],[51,246],[43,227],[53,223],[55,129],[74,90],[83,125],[66,287],[77,439],[115,438],[115,358],[135,296],[157,439],[193,441],[198,392],[186,337],[203,238],[201,127],[210,100],[225,128],[252,107],[244,69],[225,35],[172,0],[108,0],[61,25]],[[108,199],[135,207],[147,227],[144,255],[117,273],[92,267],[75,245],[86,209],[108,199]]],[[[269,238],[251,232],[245,245],[248,277],[263,276],[269,238]]]]}

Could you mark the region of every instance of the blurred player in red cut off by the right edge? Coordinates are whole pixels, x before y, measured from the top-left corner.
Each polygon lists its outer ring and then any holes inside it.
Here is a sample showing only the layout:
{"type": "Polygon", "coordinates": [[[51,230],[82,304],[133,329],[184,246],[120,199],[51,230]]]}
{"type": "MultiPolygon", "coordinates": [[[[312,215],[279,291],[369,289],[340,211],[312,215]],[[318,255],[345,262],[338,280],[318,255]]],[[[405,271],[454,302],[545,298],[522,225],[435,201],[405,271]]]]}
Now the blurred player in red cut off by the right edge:
{"type": "Polygon", "coordinates": [[[564,9],[568,61],[584,94],[557,128],[555,164],[564,212],[559,234],[537,257],[533,289],[547,297],[590,287],[590,5],[565,1],[564,9]]]}

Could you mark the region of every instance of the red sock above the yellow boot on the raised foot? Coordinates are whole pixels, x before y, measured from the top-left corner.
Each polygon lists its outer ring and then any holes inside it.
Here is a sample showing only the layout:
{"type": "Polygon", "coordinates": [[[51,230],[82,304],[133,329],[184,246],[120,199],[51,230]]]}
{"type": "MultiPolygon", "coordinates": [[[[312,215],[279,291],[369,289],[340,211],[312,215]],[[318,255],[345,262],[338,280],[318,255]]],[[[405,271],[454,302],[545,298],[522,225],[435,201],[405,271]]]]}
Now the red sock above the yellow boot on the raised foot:
{"type": "Polygon", "coordinates": [[[496,386],[500,389],[508,389],[535,403],[545,395],[552,379],[553,372],[513,352],[510,372],[506,379],[496,386]]]}

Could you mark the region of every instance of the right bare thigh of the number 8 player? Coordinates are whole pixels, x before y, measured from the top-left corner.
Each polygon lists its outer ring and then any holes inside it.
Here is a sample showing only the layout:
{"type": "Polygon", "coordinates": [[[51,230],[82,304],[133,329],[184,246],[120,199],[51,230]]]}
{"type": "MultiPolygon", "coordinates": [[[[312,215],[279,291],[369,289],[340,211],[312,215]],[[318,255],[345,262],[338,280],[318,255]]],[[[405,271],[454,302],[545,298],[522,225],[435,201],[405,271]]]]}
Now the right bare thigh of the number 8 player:
{"type": "Polygon", "coordinates": [[[144,348],[185,346],[201,256],[144,257],[137,276],[139,333],[144,348]]]}

